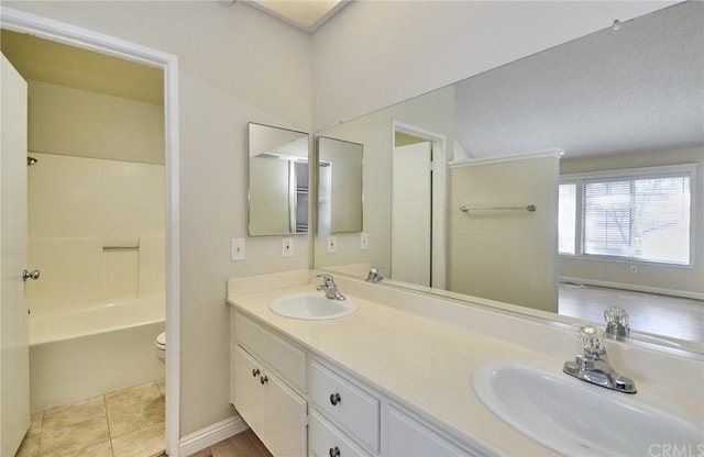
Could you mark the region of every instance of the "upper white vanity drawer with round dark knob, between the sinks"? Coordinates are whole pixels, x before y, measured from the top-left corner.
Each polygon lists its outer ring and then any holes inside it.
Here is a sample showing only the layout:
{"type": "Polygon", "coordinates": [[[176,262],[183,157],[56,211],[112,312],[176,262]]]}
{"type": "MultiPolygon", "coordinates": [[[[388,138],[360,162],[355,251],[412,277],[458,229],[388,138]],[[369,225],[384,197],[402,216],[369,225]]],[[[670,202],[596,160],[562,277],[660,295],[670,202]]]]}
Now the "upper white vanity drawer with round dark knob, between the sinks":
{"type": "Polygon", "coordinates": [[[309,392],[314,405],[373,453],[380,449],[380,400],[311,360],[309,392]]]}

